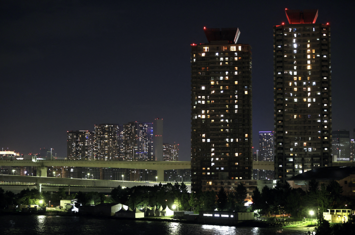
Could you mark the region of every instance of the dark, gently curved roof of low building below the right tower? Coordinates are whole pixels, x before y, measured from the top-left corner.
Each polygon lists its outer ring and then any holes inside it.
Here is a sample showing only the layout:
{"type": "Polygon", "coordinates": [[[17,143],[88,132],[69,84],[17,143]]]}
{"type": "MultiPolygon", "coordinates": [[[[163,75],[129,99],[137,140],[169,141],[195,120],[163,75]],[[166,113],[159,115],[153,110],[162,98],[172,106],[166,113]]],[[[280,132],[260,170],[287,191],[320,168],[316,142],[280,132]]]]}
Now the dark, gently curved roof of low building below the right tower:
{"type": "Polygon", "coordinates": [[[289,179],[290,181],[341,180],[355,174],[355,166],[329,166],[309,170],[289,179]]]}

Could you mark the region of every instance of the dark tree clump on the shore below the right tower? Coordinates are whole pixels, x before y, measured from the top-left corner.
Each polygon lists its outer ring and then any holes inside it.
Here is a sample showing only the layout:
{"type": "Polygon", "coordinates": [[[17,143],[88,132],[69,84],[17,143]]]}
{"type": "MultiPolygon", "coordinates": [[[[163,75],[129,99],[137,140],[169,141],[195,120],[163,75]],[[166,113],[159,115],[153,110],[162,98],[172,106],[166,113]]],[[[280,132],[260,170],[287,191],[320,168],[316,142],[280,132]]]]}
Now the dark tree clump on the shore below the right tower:
{"type": "Polygon", "coordinates": [[[326,186],[312,180],[307,191],[302,188],[291,188],[288,183],[281,185],[278,182],[275,188],[265,186],[261,192],[255,188],[252,208],[268,216],[290,213],[296,217],[306,217],[309,216],[309,211],[316,213],[319,209],[319,213],[323,213],[327,209],[344,208],[350,204],[341,195],[342,192],[342,187],[336,181],[326,186]]]}

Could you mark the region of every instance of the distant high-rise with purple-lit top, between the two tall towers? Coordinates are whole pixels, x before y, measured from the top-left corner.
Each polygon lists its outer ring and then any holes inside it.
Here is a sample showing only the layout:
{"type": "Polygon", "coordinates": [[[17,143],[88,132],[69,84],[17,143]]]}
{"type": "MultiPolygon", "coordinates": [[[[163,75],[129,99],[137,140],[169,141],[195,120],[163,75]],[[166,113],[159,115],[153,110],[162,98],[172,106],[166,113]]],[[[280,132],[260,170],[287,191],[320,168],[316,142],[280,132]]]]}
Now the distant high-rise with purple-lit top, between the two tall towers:
{"type": "Polygon", "coordinates": [[[274,161],[274,131],[259,131],[259,161],[274,161]]]}

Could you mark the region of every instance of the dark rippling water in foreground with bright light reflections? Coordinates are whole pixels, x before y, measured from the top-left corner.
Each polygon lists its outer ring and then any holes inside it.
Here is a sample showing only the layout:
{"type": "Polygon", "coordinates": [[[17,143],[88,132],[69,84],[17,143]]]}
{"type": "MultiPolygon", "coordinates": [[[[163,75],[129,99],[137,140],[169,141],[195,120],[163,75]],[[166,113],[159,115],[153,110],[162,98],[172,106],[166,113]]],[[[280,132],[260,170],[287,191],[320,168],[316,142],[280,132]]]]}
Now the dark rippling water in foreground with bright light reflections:
{"type": "Polygon", "coordinates": [[[47,215],[2,215],[1,235],[304,235],[264,228],[47,215]]]}

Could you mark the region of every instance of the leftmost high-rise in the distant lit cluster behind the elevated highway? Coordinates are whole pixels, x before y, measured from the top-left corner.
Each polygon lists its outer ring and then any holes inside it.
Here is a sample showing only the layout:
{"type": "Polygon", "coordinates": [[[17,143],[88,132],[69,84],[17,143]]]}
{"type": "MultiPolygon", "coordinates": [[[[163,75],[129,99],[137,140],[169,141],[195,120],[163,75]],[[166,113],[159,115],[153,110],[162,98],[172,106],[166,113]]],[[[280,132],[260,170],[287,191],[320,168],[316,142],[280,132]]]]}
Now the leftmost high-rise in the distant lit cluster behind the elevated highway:
{"type": "Polygon", "coordinates": [[[67,132],[68,160],[93,160],[93,132],[67,132]]]}

